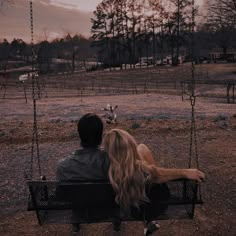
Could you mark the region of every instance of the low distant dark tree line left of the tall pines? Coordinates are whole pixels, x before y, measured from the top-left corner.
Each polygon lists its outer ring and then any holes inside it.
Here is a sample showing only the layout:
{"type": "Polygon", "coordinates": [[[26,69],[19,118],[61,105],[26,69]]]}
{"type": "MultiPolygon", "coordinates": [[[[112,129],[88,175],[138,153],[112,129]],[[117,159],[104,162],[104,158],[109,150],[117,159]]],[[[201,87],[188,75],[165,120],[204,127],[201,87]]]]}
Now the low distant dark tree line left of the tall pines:
{"type": "Polygon", "coordinates": [[[85,62],[95,55],[96,49],[91,48],[91,40],[82,35],[67,34],[50,42],[44,40],[34,44],[33,48],[22,39],[13,39],[11,42],[4,39],[0,42],[0,70],[10,69],[10,61],[14,61],[12,67],[20,67],[22,62],[30,65],[32,57],[35,57],[40,72],[48,73],[53,70],[53,58],[64,61],[58,70],[74,72],[76,61],[85,62]]]}

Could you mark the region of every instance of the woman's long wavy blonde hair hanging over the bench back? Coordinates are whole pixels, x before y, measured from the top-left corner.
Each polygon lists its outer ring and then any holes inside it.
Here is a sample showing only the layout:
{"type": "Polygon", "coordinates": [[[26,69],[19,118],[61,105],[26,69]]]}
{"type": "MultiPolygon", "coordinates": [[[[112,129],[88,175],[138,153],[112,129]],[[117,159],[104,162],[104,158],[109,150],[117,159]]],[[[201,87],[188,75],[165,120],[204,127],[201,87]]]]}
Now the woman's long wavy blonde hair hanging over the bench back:
{"type": "Polygon", "coordinates": [[[147,197],[146,178],[136,141],[128,132],[112,129],[104,138],[104,148],[111,161],[109,180],[116,193],[116,202],[124,209],[139,207],[147,197]]]}

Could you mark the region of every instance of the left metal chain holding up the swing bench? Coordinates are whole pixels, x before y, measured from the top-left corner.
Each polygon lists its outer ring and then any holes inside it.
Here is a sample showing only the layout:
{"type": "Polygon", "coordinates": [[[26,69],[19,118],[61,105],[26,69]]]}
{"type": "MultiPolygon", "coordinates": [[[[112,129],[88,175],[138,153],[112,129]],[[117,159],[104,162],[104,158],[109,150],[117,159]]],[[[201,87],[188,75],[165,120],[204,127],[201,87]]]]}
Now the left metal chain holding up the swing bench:
{"type": "Polygon", "coordinates": [[[32,52],[32,98],[33,98],[33,134],[32,134],[32,146],[31,146],[31,162],[30,162],[30,179],[33,178],[33,164],[34,164],[34,148],[36,144],[36,157],[38,162],[39,176],[41,176],[41,165],[40,165],[40,155],[39,155],[39,138],[38,138],[38,126],[37,126],[37,98],[39,98],[39,86],[38,79],[35,75],[35,53],[34,53],[34,28],[33,28],[33,4],[30,1],[30,29],[31,29],[31,52],[32,52]],[[36,91],[38,90],[38,97],[36,98],[36,91]]]}

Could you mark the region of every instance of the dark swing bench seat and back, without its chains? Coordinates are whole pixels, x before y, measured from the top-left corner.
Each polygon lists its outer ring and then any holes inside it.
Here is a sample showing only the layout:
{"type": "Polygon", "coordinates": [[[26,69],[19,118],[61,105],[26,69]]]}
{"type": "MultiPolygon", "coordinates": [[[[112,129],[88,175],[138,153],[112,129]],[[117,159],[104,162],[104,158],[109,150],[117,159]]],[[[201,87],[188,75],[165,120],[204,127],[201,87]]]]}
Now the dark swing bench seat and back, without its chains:
{"type": "Polygon", "coordinates": [[[28,181],[28,210],[35,211],[40,225],[145,221],[193,218],[202,204],[196,181],[179,179],[147,185],[149,198],[140,209],[124,214],[115,202],[108,182],[28,181]]]}

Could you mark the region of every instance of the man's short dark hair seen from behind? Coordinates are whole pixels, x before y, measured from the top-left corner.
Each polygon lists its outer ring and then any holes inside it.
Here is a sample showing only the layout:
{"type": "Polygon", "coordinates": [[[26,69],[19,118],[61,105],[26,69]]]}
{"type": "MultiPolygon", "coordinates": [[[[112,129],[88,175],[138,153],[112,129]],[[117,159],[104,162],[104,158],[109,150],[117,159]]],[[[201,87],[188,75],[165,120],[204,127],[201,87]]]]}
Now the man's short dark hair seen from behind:
{"type": "Polygon", "coordinates": [[[94,113],[88,113],[82,116],[78,122],[78,133],[82,147],[99,146],[102,142],[103,133],[103,122],[101,118],[94,113]]]}

